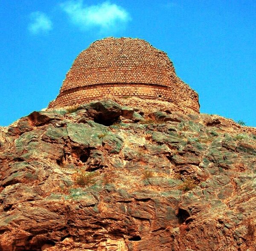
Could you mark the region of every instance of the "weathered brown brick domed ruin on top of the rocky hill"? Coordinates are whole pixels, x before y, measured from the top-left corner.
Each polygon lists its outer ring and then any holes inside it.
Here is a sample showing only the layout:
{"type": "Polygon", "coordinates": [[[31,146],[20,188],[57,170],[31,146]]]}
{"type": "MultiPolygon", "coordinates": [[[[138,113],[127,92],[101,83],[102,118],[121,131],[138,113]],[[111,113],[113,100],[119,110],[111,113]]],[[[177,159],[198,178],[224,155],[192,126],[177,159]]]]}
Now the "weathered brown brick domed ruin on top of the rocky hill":
{"type": "Polygon", "coordinates": [[[198,94],[176,76],[167,54],[140,39],[92,43],[75,59],[49,108],[108,96],[165,100],[199,112],[198,94]]]}

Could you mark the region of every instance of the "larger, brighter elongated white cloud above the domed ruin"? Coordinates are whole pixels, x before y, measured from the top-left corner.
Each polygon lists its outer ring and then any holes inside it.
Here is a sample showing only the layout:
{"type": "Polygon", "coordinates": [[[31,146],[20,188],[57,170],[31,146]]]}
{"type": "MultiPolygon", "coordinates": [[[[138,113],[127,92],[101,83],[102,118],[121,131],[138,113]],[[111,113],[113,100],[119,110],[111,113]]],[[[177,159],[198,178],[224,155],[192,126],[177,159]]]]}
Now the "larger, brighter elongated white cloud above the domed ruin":
{"type": "Polygon", "coordinates": [[[124,27],[131,20],[125,9],[109,2],[85,6],[83,0],[72,0],[62,3],[61,9],[84,30],[99,28],[100,31],[113,31],[124,27]]]}

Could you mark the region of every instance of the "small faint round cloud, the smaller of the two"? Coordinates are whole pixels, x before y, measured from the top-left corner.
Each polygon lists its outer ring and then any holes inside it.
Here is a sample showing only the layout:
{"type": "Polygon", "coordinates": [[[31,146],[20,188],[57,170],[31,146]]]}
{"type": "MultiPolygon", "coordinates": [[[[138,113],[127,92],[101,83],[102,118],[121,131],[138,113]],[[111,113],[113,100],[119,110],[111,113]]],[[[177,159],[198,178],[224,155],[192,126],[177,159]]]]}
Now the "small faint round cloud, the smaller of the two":
{"type": "Polygon", "coordinates": [[[43,12],[32,12],[30,14],[30,20],[28,29],[32,34],[47,33],[52,30],[52,21],[43,12]]]}

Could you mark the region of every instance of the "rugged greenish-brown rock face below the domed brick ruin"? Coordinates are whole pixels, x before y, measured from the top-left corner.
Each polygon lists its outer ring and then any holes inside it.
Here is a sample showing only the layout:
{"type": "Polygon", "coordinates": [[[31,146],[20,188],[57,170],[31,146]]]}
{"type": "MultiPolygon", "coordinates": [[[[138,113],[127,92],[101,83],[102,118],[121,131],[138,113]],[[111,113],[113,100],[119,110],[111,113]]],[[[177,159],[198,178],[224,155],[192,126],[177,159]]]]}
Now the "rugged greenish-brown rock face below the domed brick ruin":
{"type": "Polygon", "coordinates": [[[256,250],[256,129],[111,100],[0,128],[0,250],[256,250]]]}

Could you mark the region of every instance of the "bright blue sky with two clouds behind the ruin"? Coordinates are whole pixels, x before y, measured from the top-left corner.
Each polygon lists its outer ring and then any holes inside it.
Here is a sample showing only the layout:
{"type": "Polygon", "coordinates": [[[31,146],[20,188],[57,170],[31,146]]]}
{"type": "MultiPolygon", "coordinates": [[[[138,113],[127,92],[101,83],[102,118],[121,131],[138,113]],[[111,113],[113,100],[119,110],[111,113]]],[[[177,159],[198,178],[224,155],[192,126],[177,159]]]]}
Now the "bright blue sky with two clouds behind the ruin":
{"type": "Polygon", "coordinates": [[[166,51],[201,112],[256,126],[255,0],[12,0],[0,7],[0,125],[47,107],[95,40],[166,51]]]}

